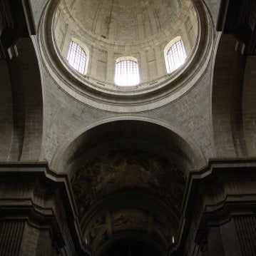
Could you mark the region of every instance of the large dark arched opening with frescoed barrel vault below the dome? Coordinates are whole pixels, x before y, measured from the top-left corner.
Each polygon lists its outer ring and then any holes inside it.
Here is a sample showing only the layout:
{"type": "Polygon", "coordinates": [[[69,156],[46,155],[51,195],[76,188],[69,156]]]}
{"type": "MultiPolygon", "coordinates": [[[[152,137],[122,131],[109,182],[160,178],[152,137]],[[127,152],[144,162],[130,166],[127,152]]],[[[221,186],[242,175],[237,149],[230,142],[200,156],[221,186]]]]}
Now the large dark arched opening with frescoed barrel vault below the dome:
{"type": "Polygon", "coordinates": [[[168,255],[197,158],[183,138],[154,123],[112,121],[79,135],[63,155],[58,168],[69,173],[83,240],[95,255],[127,233],[134,253],[143,253],[135,238],[143,235],[162,248],[156,255],[168,255]]]}

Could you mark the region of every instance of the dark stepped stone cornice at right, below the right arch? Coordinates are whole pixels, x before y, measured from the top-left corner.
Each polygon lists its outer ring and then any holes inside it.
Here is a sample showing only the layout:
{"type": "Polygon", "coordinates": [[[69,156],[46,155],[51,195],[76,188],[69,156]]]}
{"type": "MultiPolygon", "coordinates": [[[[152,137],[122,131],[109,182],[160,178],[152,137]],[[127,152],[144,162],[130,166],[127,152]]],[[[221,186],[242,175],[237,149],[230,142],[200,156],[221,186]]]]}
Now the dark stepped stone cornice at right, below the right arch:
{"type": "Polygon", "coordinates": [[[177,245],[185,246],[192,225],[198,230],[194,242],[200,244],[211,223],[220,225],[237,214],[255,215],[255,209],[256,158],[210,159],[188,176],[177,245]]]}

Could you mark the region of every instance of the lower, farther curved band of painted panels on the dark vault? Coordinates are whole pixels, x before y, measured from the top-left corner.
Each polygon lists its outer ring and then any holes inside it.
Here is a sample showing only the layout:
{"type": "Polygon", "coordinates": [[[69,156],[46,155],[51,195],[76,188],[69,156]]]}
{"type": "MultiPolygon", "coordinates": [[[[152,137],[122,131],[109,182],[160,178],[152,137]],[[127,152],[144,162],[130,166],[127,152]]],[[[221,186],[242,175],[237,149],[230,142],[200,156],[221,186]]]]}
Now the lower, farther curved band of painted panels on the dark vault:
{"type": "Polygon", "coordinates": [[[148,235],[166,250],[172,246],[173,230],[168,227],[168,223],[164,219],[162,220],[158,214],[138,208],[107,211],[88,226],[86,240],[94,252],[99,245],[117,232],[128,230],[148,235]]]}

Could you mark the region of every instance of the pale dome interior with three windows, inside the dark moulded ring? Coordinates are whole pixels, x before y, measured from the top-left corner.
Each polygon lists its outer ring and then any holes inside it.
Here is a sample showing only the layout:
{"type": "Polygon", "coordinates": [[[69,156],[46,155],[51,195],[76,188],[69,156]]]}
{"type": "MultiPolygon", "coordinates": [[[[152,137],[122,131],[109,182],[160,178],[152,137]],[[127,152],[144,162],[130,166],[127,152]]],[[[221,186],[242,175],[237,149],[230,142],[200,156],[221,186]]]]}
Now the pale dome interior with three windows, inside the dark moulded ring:
{"type": "MultiPolygon", "coordinates": [[[[106,93],[134,95],[170,83],[176,69],[183,69],[179,66],[188,61],[197,43],[198,16],[191,0],[61,0],[53,20],[53,37],[66,68],[83,84],[106,93]],[[170,71],[168,51],[176,41],[182,43],[184,56],[170,71]],[[86,56],[80,72],[67,63],[71,42],[86,56]],[[120,59],[137,65],[137,83],[130,87],[116,82],[120,59]]],[[[179,47],[175,51],[179,53],[179,47]]],[[[174,62],[176,58],[180,57],[175,56],[174,62]]],[[[124,80],[129,81],[130,75],[124,80]]]]}

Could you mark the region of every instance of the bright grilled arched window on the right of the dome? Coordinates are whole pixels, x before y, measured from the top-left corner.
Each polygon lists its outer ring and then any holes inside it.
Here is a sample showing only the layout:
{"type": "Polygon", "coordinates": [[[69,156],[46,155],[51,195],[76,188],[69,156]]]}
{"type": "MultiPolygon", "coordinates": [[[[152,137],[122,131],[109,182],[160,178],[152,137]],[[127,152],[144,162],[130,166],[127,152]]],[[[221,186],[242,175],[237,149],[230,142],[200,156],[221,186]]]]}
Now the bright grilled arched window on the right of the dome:
{"type": "Polygon", "coordinates": [[[179,68],[187,58],[183,41],[180,36],[176,37],[165,46],[165,63],[168,73],[179,68]]]}

